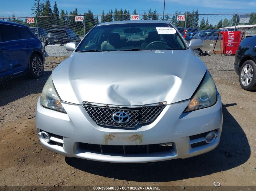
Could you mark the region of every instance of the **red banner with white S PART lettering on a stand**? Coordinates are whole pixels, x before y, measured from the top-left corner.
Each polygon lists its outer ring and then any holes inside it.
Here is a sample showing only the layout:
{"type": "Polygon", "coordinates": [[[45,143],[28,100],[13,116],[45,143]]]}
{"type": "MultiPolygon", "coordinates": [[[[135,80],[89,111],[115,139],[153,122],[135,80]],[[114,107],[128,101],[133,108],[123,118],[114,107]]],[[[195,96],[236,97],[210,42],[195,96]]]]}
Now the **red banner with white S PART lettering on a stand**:
{"type": "Polygon", "coordinates": [[[241,31],[221,32],[223,36],[223,53],[234,55],[241,40],[241,31]]]}

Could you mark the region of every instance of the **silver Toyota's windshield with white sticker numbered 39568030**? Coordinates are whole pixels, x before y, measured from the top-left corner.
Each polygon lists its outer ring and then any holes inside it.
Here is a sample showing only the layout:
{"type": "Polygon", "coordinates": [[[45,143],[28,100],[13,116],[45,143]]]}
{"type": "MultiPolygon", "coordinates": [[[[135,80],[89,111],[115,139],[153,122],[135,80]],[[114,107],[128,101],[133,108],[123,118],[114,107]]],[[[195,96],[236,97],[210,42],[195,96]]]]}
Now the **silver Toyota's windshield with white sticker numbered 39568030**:
{"type": "Polygon", "coordinates": [[[94,27],[76,52],[152,49],[183,50],[186,46],[171,24],[128,23],[94,27]]]}

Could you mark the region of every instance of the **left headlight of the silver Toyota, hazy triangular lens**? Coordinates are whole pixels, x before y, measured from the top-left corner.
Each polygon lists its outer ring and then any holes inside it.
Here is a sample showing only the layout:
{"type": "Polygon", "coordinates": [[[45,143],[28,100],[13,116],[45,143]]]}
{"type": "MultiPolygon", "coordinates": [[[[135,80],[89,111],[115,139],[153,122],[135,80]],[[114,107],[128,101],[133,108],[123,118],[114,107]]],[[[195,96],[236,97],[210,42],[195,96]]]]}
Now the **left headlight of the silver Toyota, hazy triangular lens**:
{"type": "Polygon", "coordinates": [[[60,98],[58,97],[57,91],[54,88],[52,82],[52,75],[48,78],[43,88],[41,104],[42,106],[47,107],[49,109],[66,113],[65,109],[61,104],[60,98]]]}

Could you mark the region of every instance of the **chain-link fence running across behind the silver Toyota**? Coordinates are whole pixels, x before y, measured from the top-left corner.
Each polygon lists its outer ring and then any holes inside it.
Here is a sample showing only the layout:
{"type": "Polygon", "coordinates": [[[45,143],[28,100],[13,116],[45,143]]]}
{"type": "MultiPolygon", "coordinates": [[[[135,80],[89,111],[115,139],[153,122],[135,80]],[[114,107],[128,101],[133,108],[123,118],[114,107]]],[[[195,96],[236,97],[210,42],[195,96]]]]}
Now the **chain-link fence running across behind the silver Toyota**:
{"type": "MultiPolygon", "coordinates": [[[[165,20],[169,21],[183,33],[194,35],[198,30],[223,30],[242,31],[247,35],[256,35],[256,14],[185,14],[185,21],[178,21],[180,14],[139,15],[139,20],[165,20]],[[184,29],[183,29],[184,28],[184,29]],[[190,33],[191,32],[191,33],[190,33]]],[[[96,24],[111,21],[131,20],[128,14],[106,14],[106,15],[64,15],[29,17],[33,23],[23,18],[2,18],[5,21],[13,21],[30,27],[35,35],[42,35],[51,44],[65,44],[68,42],[79,42],[85,34],[96,24]]]]}

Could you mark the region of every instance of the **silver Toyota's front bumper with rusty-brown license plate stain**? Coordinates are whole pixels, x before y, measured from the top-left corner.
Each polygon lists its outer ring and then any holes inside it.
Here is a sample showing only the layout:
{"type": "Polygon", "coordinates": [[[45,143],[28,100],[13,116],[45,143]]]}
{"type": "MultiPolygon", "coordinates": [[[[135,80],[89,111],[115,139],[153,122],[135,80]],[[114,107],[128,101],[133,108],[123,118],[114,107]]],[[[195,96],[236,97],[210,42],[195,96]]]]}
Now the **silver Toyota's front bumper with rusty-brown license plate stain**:
{"type": "MultiPolygon", "coordinates": [[[[67,113],[42,107],[40,97],[36,109],[36,128],[43,146],[68,157],[116,163],[142,163],[188,158],[211,151],[217,147],[222,130],[221,97],[214,106],[182,113],[189,101],[167,105],[151,124],[135,129],[112,128],[97,125],[82,105],[62,102],[67,113]],[[195,140],[189,136],[216,131],[216,138],[209,144],[191,147],[195,140]],[[42,139],[41,131],[60,135],[53,137],[51,144],[42,139]],[[63,136],[63,137],[62,137],[63,136]],[[90,151],[82,148],[83,143],[95,145],[152,145],[172,143],[169,151],[115,154],[90,151]]],[[[201,138],[203,139],[203,138],[201,138]]],[[[198,139],[196,139],[198,140],[198,139]]]]}

